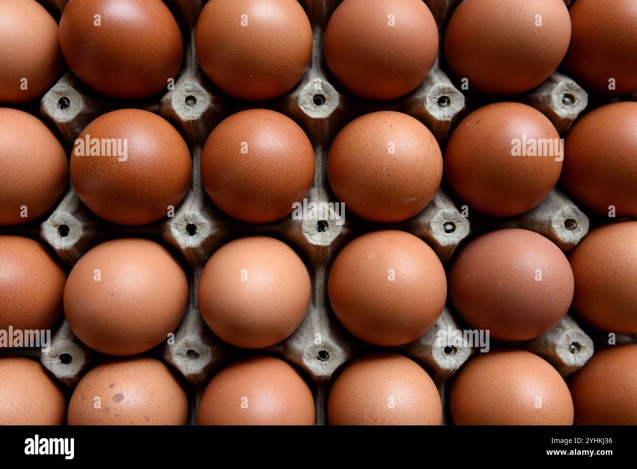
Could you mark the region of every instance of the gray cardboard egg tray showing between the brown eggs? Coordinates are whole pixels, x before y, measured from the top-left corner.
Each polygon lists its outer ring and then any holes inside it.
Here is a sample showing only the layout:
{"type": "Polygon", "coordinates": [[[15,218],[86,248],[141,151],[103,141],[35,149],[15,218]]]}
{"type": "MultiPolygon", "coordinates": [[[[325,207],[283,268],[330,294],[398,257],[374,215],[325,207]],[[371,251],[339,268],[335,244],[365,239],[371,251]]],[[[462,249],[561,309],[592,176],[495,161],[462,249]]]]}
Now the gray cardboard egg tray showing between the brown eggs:
{"type": "MultiPolygon", "coordinates": [[[[41,0],[59,19],[66,0],[41,0]]],[[[459,0],[426,0],[439,27],[459,0]]],[[[334,317],[327,296],[327,275],[340,249],[355,236],[374,229],[402,229],[419,236],[431,246],[443,264],[454,251],[475,233],[501,227],[520,227],[547,236],[564,252],[571,250],[587,233],[589,218],[559,189],[533,210],[510,219],[482,216],[464,217],[461,203],[441,188],[433,201],[412,219],[395,224],[372,224],[347,214],[340,226],[328,219],[294,220],[291,215],[269,224],[245,224],[220,212],[201,184],[199,159],[201,148],[211,130],[228,115],[249,108],[269,108],[295,120],[308,134],[317,159],[315,181],[308,201],[335,202],[326,177],[326,159],[334,136],[350,120],[375,110],[396,110],[423,122],[444,148],[448,134],[469,109],[471,103],[452,83],[436,61],[422,85],[406,97],[387,103],[361,101],[342,92],[329,75],[322,57],[322,35],[327,20],[340,0],[300,0],[313,27],[313,55],[310,68],[301,82],[288,94],[268,103],[243,103],[219,92],[203,75],[194,50],[194,25],[206,0],[166,0],[182,25],[185,38],[183,69],[175,89],[143,101],[115,101],[88,89],[72,73],[66,73],[41,99],[39,116],[57,128],[69,151],[76,136],[99,115],[118,108],[141,108],[168,119],[189,144],[193,159],[190,190],[175,212],[175,217],[141,227],[110,224],[83,206],[73,187],[45,219],[24,226],[3,227],[2,234],[18,234],[47,242],[70,269],[76,261],[100,242],[122,236],[144,236],[161,242],[182,262],[190,284],[190,301],[182,323],[175,331],[174,345],[164,343],[148,354],[164,359],[185,378],[189,388],[190,423],[196,422],[199,396],[211,376],[236,357],[267,353],[282,357],[295,366],[310,384],[317,405],[317,424],[326,424],[326,400],[331,377],[359,354],[378,350],[350,335],[334,317]],[[310,271],[312,297],[308,313],[299,328],[281,343],[262,350],[241,350],[222,342],[203,321],[197,307],[197,285],[208,258],[225,243],[245,235],[273,236],[292,246],[310,271]]],[[[569,2],[567,2],[569,3],[569,2]]],[[[468,94],[468,96],[471,96],[468,94]]],[[[475,101],[484,99],[480,97],[475,101]]],[[[568,76],[554,73],[539,87],[513,99],[534,106],[550,119],[562,135],[586,108],[588,96],[568,76]]],[[[496,101],[496,99],[492,99],[496,101]]],[[[347,206],[346,206],[347,211],[347,206]]],[[[445,384],[475,349],[439,345],[438,330],[464,329],[448,305],[433,328],[418,340],[395,350],[420,363],[436,382],[443,404],[445,384]]],[[[599,340],[603,333],[596,332],[599,340]]],[[[618,341],[634,342],[634,336],[618,341]]],[[[580,368],[593,353],[593,341],[575,320],[566,315],[545,335],[520,343],[509,343],[530,350],[552,363],[562,376],[580,368]]],[[[492,347],[506,345],[492,341],[492,347]]],[[[53,332],[52,347],[39,350],[3,350],[2,354],[39,356],[55,377],[75,387],[84,373],[105,356],[83,345],[66,321],[53,332]]],[[[447,408],[447,406],[445,406],[447,408]]],[[[448,410],[445,422],[450,422],[448,410]]]]}

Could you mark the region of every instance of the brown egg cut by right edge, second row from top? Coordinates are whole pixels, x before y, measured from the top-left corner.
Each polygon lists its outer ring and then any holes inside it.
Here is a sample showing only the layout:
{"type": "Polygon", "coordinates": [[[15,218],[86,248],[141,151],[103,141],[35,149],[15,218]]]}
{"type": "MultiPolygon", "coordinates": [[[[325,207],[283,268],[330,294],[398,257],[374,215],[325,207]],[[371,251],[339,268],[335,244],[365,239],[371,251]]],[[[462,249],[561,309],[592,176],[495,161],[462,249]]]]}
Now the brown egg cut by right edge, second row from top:
{"type": "Polygon", "coordinates": [[[585,114],[564,147],[562,184],[572,196],[603,215],[611,206],[615,215],[637,215],[637,103],[585,114]]]}

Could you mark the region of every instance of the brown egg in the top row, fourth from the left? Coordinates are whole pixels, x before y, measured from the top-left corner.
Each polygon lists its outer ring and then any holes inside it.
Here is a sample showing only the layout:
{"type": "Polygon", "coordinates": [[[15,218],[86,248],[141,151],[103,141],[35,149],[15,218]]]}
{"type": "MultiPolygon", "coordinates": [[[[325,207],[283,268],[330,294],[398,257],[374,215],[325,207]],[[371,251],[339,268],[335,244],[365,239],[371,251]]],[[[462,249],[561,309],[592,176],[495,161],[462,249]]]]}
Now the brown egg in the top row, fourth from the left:
{"type": "Polygon", "coordinates": [[[363,99],[404,96],[424,82],[438,55],[438,27],[421,0],[345,0],[325,31],[334,78],[363,99]]]}

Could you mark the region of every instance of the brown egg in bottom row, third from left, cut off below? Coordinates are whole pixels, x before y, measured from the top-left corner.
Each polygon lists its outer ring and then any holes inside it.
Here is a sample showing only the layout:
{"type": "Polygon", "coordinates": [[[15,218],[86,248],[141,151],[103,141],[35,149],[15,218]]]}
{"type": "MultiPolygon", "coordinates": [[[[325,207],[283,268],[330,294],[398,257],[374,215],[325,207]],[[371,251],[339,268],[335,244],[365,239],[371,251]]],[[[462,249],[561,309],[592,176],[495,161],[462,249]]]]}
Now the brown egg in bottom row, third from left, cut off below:
{"type": "Polygon", "coordinates": [[[199,425],[313,425],[310,388],[285,361],[249,357],[226,366],[199,403],[199,425]]]}

